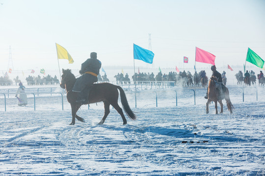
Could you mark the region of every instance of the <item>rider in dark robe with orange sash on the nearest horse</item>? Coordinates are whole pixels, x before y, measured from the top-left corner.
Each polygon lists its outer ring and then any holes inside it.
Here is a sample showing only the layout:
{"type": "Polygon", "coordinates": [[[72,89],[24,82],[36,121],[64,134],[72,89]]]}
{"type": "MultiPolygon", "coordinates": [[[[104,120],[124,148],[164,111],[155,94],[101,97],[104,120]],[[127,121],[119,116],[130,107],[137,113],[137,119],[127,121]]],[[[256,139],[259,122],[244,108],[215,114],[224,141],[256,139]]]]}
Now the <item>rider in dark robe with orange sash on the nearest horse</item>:
{"type": "Polygon", "coordinates": [[[97,53],[91,52],[90,59],[87,59],[81,65],[79,70],[80,77],[77,79],[73,91],[79,92],[77,103],[87,104],[88,103],[88,89],[91,88],[93,83],[98,81],[98,74],[101,68],[101,62],[97,59],[97,53]]]}

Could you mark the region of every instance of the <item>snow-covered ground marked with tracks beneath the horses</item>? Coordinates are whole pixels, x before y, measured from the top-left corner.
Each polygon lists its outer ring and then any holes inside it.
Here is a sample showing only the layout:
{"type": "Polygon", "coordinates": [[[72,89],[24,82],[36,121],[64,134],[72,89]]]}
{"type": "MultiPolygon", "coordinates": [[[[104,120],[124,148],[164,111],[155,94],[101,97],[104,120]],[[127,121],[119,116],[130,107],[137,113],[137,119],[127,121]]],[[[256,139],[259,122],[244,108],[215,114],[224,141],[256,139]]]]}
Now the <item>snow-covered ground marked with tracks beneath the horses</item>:
{"type": "Polygon", "coordinates": [[[256,88],[245,88],[244,102],[242,88],[229,90],[234,113],[224,106],[217,115],[213,104],[206,114],[203,88],[196,105],[193,90],[141,90],[137,108],[126,91],[137,120],[122,125],[111,109],[102,126],[103,103],[82,106],[86,122],[69,126],[65,96],[62,110],[60,94],[40,94],[34,111],[33,95],[19,107],[10,94],[4,111],[0,94],[0,176],[264,176],[265,88],[258,101],[256,88]]]}

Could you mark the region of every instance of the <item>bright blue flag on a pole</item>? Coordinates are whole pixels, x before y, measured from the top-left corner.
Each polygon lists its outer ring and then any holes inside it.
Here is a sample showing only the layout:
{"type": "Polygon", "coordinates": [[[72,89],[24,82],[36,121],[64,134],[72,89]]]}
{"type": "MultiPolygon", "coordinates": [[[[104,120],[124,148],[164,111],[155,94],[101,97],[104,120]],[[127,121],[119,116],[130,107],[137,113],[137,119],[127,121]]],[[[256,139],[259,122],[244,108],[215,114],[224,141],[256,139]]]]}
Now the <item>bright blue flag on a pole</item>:
{"type": "Polygon", "coordinates": [[[136,44],[133,44],[133,59],[141,60],[143,62],[152,64],[154,53],[150,50],[144,49],[136,44]]]}

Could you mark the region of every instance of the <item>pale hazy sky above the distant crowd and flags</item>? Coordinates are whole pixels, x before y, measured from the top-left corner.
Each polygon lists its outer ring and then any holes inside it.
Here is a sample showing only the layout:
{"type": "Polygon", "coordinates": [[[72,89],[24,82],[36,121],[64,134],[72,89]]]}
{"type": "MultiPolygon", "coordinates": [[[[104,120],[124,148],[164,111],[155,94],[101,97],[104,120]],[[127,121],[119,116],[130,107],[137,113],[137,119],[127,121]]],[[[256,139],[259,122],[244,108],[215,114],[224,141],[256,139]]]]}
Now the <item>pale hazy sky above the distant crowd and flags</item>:
{"type": "MultiPolygon", "coordinates": [[[[243,65],[250,47],[265,60],[265,0],[0,0],[0,70],[9,46],[15,70],[57,69],[55,43],[80,68],[97,52],[102,66],[133,66],[133,43],[149,48],[153,65],[193,67],[195,47],[216,56],[216,66],[243,65]]],[[[196,63],[197,66],[208,64],[196,63]]]]}

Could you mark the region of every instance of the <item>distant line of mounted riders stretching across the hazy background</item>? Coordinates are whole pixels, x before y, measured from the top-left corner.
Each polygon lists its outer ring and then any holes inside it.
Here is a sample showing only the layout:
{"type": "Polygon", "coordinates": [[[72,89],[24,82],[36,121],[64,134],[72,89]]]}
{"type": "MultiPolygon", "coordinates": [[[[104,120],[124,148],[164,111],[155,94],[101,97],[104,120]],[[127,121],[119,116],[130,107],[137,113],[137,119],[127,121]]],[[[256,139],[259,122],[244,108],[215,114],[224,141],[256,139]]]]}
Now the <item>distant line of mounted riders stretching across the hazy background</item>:
{"type": "MultiPolygon", "coordinates": [[[[226,76],[225,76],[225,71],[222,72],[222,79],[224,85],[226,85],[226,76]]],[[[210,75],[211,76],[211,75],[210,75]]],[[[242,85],[243,83],[246,86],[255,85],[256,84],[256,79],[258,77],[259,80],[259,85],[265,85],[265,77],[263,75],[263,72],[260,71],[260,74],[255,76],[254,71],[248,72],[246,70],[246,73],[243,75],[242,71],[238,71],[238,73],[235,75],[237,79],[237,84],[242,85]]],[[[122,84],[149,84],[151,82],[162,82],[162,81],[168,81],[171,82],[170,85],[172,86],[203,86],[207,87],[208,85],[208,77],[206,75],[205,70],[201,70],[199,73],[195,71],[194,74],[191,74],[189,71],[185,72],[180,71],[179,73],[177,72],[169,72],[168,74],[162,74],[162,72],[158,72],[157,75],[155,75],[153,72],[152,73],[135,73],[132,75],[131,79],[129,78],[128,73],[125,75],[123,73],[117,73],[114,78],[116,79],[116,84],[117,85],[122,85],[122,84]]],[[[16,78],[13,79],[13,81],[18,85],[21,80],[17,76],[16,78]]],[[[0,77],[0,86],[10,86],[13,84],[13,81],[9,79],[8,75],[1,76],[0,77]]],[[[56,75],[52,77],[51,75],[47,76],[27,76],[26,78],[27,85],[58,85],[59,80],[57,79],[56,75]]],[[[101,76],[100,74],[98,75],[98,82],[109,82],[109,79],[107,78],[106,73],[101,76]]]]}

